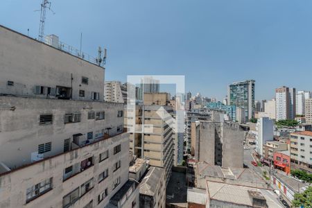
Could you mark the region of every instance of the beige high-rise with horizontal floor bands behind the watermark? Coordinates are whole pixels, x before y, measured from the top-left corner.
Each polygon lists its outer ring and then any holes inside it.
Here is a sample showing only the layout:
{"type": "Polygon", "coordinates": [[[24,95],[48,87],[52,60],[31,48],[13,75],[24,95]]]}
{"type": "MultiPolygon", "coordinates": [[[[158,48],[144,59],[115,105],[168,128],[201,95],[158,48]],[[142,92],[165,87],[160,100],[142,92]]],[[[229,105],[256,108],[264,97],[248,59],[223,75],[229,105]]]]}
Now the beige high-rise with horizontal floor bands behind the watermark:
{"type": "Polygon", "coordinates": [[[144,105],[136,105],[135,112],[132,109],[127,110],[125,128],[131,128],[133,125],[141,125],[144,128],[138,132],[131,132],[130,151],[139,158],[148,159],[151,166],[164,168],[166,178],[170,178],[173,155],[177,155],[177,150],[175,132],[166,123],[174,114],[173,107],[166,103],[168,104],[166,93],[153,96],[144,94],[144,105]],[[135,123],[131,122],[132,119],[135,119],[135,123]]]}

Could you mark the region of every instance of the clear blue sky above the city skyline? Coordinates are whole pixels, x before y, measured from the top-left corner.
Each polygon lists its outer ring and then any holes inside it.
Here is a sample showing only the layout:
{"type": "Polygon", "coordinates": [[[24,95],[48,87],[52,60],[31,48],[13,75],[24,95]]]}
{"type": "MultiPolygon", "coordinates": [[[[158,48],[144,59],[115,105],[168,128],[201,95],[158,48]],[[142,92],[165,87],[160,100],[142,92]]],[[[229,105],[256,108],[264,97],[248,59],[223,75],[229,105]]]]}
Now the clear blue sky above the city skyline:
{"type": "MultiPolygon", "coordinates": [[[[1,0],[0,24],[38,36],[42,0],[1,0]]],[[[216,97],[256,80],[257,100],[286,85],[312,90],[312,1],[51,0],[46,35],[97,55],[105,80],[184,75],[186,91],[216,97]]]]}

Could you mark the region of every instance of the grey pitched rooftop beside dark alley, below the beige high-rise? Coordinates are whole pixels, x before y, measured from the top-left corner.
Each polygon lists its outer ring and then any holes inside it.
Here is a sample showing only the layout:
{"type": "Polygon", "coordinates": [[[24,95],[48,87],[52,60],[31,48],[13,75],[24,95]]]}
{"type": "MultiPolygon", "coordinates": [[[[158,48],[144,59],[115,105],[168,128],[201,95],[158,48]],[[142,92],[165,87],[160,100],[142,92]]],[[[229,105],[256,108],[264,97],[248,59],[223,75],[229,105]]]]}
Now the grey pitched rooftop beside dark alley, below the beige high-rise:
{"type": "Polygon", "coordinates": [[[164,175],[164,168],[150,167],[140,183],[140,194],[154,196],[162,175],[164,175]]]}

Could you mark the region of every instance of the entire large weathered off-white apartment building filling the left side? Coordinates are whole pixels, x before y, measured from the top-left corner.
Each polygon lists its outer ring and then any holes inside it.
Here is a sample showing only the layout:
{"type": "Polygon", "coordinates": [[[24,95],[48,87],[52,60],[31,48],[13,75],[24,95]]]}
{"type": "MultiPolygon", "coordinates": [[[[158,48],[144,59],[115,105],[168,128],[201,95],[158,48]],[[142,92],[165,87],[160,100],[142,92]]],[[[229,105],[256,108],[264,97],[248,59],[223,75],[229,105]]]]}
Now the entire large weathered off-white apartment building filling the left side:
{"type": "Polygon", "coordinates": [[[0,207],[139,207],[123,104],[58,46],[0,26],[0,207]]]}

